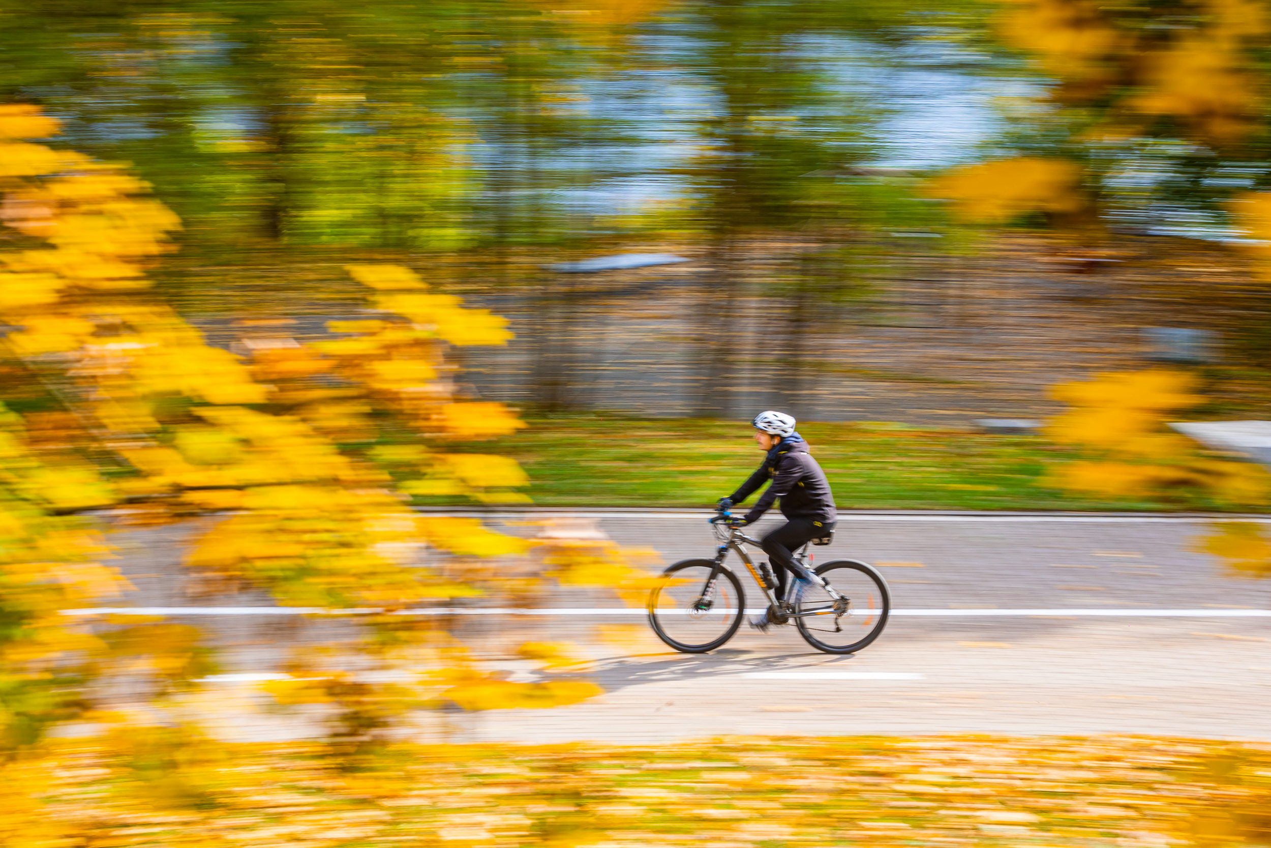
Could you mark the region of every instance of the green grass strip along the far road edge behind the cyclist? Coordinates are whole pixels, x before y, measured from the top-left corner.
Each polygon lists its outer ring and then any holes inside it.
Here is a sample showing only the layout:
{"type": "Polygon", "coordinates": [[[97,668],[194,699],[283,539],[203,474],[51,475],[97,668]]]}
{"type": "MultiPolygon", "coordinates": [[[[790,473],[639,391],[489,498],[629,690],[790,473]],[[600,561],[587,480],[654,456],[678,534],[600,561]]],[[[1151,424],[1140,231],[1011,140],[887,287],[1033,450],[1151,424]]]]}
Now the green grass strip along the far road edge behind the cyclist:
{"type": "MultiPolygon", "coordinates": [[[[708,506],[760,459],[747,422],[567,416],[474,445],[521,462],[540,506],[708,506]]],[[[1045,484],[1075,459],[1036,436],[923,430],[888,423],[810,423],[799,432],[840,509],[1179,510],[1197,500],[1087,500],[1045,484]]]]}

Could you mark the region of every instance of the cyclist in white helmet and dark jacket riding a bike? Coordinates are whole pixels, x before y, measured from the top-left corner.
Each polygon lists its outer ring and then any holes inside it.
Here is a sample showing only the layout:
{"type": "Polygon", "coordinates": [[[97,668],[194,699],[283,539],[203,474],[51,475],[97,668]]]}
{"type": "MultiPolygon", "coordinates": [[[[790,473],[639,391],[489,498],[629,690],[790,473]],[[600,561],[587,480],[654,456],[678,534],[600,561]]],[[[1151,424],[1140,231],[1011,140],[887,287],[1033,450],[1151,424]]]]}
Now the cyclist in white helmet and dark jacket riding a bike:
{"type": "MultiPolygon", "coordinates": [[[[794,418],[783,412],[760,412],[751,422],[755,441],[766,451],[764,462],[750,478],[728,497],[719,498],[719,507],[728,509],[744,502],[764,483],[771,481],[740,524],[754,524],[780,498],[785,524],[763,538],[760,544],[768,554],[777,577],[778,598],[798,603],[803,590],[811,585],[811,575],[794,563],[794,552],[812,539],[834,531],[838,512],[825,472],[808,453],[807,442],[794,432],[794,418]],[[787,594],[787,572],[793,576],[792,591],[787,594]]],[[[765,612],[751,619],[751,627],[766,631],[771,620],[765,612]]]]}

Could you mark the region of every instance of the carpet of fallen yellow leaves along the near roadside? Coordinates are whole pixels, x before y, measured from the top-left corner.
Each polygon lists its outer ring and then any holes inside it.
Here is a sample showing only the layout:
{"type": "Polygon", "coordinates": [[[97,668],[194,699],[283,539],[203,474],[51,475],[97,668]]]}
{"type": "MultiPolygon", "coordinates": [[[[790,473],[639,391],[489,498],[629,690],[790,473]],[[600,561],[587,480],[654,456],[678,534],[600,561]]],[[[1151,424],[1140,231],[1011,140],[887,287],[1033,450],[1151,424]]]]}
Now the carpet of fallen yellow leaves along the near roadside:
{"type": "Polygon", "coordinates": [[[1144,736],[397,744],[351,770],[308,745],[217,746],[150,727],[0,765],[0,838],[749,848],[850,833],[897,847],[1200,848],[1257,844],[1268,774],[1262,746],[1144,736]]]}

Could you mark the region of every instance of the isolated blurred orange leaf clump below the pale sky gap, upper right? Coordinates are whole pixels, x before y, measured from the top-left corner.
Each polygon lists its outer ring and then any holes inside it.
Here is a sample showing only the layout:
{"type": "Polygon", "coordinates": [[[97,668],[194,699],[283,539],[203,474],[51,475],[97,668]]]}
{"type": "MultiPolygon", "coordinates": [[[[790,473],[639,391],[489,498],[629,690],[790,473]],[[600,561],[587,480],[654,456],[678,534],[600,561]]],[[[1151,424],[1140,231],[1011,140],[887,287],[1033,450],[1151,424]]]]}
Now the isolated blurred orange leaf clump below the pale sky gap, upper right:
{"type": "Polygon", "coordinates": [[[1019,156],[962,165],[930,181],[929,197],[952,201],[967,221],[1004,224],[1031,212],[1075,212],[1085,200],[1082,169],[1066,159],[1019,156]]]}

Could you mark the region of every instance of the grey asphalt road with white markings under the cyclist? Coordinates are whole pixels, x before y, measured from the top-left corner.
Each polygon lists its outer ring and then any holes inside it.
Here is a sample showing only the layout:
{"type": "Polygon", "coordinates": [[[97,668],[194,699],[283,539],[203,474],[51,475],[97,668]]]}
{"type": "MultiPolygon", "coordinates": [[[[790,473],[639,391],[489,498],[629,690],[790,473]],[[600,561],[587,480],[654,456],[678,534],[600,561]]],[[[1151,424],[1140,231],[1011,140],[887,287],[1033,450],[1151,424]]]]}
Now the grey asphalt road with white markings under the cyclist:
{"type": "MultiPolygon", "coordinates": [[[[577,526],[594,526],[623,545],[656,548],[665,563],[713,547],[704,514],[572,516],[577,526]]],[[[520,535],[540,531],[527,517],[543,515],[506,515],[492,524],[520,535]]],[[[948,732],[1267,740],[1271,581],[1229,577],[1221,563],[1199,553],[1196,540],[1210,529],[1200,519],[1158,516],[845,516],[819,558],[880,564],[894,606],[909,612],[860,653],[819,653],[793,628],[777,628],[742,629],[712,655],[679,655],[633,615],[474,615],[460,634],[488,667],[511,679],[541,679],[533,664],[508,659],[497,646],[508,636],[568,641],[590,659],[585,676],[606,693],[555,709],[446,715],[440,723],[425,721],[419,732],[521,742],[948,732]]],[[[118,564],[139,586],[123,604],[196,603],[178,591],[174,576],[191,531],[118,534],[118,564]]],[[[605,592],[573,590],[541,605],[620,604],[605,592]]],[[[277,671],[286,643],[296,638],[296,618],[188,617],[210,624],[225,646],[230,676],[216,681],[225,704],[257,703],[252,684],[234,675],[277,671]]],[[[266,712],[222,718],[235,736],[311,730],[266,712]]]]}

